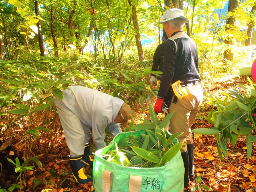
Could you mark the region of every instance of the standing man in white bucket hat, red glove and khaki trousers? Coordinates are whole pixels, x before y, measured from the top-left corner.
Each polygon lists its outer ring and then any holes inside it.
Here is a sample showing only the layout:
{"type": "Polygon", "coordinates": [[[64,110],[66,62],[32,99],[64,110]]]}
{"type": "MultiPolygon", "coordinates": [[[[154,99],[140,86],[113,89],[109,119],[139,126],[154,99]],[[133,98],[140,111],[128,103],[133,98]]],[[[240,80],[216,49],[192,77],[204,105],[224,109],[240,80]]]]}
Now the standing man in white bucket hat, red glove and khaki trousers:
{"type": "Polygon", "coordinates": [[[169,106],[169,112],[175,111],[170,120],[170,132],[183,132],[178,136],[178,140],[184,142],[181,156],[185,167],[184,187],[188,187],[189,180],[194,179],[194,144],[190,128],[203,100],[197,46],[182,31],[184,24],[188,23],[182,10],[174,8],[165,11],[163,20],[159,23],[163,23],[168,39],[164,45],[163,75],[155,103],[155,112],[162,113],[163,99],[170,86],[174,87],[174,89],[171,88],[172,98],[169,106]]]}

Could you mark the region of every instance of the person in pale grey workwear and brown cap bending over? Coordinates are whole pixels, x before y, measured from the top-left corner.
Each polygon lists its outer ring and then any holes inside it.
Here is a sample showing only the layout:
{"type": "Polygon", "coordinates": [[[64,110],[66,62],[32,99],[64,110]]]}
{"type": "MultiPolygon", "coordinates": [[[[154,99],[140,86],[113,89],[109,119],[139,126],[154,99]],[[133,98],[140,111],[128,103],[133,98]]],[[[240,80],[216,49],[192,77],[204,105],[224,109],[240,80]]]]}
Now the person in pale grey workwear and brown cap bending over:
{"type": "Polygon", "coordinates": [[[108,126],[116,135],[120,132],[118,123],[127,127],[132,111],[123,100],[82,86],[72,86],[63,91],[63,99],[55,99],[67,146],[72,174],[76,182],[85,184],[91,181],[83,167],[91,166],[90,129],[95,146],[103,148],[108,126]]]}

